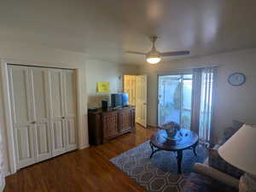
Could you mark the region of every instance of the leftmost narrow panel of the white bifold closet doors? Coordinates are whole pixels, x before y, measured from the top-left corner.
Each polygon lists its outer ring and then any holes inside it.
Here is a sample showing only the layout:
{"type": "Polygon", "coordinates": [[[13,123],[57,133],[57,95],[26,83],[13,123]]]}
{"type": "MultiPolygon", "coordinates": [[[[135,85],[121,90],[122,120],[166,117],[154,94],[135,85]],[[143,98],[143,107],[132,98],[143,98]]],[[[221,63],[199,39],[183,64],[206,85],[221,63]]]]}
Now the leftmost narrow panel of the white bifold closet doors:
{"type": "Polygon", "coordinates": [[[17,168],[32,165],[35,160],[35,125],[32,124],[32,77],[26,67],[8,66],[9,89],[15,137],[17,168]]]}

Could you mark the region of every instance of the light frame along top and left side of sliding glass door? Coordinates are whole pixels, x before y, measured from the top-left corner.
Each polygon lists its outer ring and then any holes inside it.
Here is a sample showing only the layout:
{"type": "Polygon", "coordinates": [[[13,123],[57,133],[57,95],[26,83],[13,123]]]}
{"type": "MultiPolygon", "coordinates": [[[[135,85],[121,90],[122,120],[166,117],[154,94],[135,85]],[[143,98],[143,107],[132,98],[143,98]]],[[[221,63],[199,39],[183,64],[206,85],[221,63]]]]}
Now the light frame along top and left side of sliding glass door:
{"type": "MultiPolygon", "coordinates": [[[[186,74],[192,74],[192,69],[183,69],[183,70],[177,70],[177,71],[172,71],[172,72],[167,72],[167,73],[159,73],[157,74],[157,89],[156,89],[156,111],[157,111],[157,115],[156,115],[156,123],[157,123],[157,127],[159,127],[159,78],[160,76],[168,76],[168,75],[186,75],[186,74]]],[[[192,88],[193,89],[193,88],[192,88]]]]}

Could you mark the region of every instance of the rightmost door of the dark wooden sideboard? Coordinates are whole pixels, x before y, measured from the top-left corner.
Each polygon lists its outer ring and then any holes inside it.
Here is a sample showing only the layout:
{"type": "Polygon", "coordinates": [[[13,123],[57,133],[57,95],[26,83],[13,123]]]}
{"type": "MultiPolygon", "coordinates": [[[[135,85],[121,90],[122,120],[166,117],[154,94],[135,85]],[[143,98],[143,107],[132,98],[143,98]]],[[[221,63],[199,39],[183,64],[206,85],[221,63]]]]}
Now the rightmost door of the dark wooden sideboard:
{"type": "Polygon", "coordinates": [[[131,109],[119,111],[119,131],[124,132],[131,129],[131,109]]]}

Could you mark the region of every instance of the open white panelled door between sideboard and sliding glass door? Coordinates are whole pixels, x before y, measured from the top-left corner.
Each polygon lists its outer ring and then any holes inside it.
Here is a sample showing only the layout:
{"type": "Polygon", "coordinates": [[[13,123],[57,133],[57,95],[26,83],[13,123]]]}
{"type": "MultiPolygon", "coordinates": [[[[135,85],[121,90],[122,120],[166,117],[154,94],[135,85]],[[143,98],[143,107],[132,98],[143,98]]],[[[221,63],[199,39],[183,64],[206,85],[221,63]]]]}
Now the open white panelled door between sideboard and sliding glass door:
{"type": "Polygon", "coordinates": [[[137,123],[147,127],[147,75],[137,76],[137,123]]]}

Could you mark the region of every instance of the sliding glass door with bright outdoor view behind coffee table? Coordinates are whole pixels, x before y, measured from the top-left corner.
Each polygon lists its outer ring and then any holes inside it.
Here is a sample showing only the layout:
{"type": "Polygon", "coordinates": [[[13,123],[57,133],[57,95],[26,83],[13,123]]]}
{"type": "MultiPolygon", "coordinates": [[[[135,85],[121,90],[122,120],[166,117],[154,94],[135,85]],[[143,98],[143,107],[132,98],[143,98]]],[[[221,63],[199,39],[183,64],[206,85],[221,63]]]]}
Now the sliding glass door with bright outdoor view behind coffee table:
{"type": "Polygon", "coordinates": [[[161,75],[158,82],[158,125],[174,121],[190,129],[192,74],[161,75]]]}

